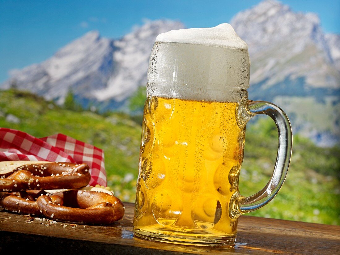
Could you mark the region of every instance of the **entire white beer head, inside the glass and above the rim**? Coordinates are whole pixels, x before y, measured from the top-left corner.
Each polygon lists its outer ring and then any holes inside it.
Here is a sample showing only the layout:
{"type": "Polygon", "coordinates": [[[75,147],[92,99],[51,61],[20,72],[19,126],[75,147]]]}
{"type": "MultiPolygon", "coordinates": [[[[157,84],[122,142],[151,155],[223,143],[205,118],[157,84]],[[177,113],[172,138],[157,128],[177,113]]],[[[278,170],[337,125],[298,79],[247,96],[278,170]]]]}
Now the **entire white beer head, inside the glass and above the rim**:
{"type": "Polygon", "coordinates": [[[157,36],[150,54],[148,96],[238,102],[247,97],[247,44],[227,23],[157,36]]]}

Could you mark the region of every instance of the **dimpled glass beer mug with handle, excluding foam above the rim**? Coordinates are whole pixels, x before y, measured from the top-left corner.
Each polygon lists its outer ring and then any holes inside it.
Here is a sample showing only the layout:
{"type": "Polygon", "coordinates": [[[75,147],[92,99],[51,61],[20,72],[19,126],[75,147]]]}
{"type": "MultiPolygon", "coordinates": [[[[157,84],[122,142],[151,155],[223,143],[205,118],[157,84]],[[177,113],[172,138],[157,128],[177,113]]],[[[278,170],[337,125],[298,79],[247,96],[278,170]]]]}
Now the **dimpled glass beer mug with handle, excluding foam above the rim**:
{"type": "Polygon", "coordinates": [[[292,133],[276,105],[248,100],[244,49],[157,42],[148,68],[133,229],[147,239],[232,245],[237,218],[273,199],[291,155],[292,133]],[[267,185],[239,193],[245,125],[257,114],[278,129],[267,185]]]}

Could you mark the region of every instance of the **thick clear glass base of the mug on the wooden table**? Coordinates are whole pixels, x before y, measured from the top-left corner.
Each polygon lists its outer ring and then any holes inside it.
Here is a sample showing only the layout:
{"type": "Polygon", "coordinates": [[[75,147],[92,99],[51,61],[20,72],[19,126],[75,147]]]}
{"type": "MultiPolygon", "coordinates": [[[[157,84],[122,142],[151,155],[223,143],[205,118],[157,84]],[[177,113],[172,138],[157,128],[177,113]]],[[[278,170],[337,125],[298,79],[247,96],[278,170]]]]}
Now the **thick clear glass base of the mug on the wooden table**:
{"type": "Polygon", "coordinates": [[[152,233],[140,228],[133,228],[136,236],[149,239],[152,241],[177,243],[184,245],[197,246],[232,246],[235,244],[236,235],[233,236],[185,236],[185,235],[170,235],[166,233],[152,233]]]}

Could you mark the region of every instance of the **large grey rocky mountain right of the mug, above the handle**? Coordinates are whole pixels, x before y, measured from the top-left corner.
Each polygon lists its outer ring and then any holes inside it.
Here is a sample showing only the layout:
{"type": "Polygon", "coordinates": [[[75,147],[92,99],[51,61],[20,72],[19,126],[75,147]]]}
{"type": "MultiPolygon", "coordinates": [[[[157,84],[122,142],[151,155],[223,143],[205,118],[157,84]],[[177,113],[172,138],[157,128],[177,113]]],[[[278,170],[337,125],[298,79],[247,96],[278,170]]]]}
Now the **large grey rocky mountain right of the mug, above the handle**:
{"type": "Polygon", "coordinates": [[[248,43],[249,98],[279,105],[294,133],[321,146],[340,139],[340,36],[326,35],[313,13],[263,1],[231,24],[248,43]]]}

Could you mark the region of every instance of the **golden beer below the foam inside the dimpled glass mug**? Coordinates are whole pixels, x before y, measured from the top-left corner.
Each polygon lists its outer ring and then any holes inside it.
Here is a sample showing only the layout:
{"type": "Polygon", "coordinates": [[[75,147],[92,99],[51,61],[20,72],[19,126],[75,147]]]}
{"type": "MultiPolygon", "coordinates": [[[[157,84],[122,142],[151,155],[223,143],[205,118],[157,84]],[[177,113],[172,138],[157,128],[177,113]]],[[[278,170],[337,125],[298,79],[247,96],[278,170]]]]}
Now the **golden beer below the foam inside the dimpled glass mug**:
{"type": "Polygon", "coordinates": [[[244,128],[238,103],[149,96],[144,107],[134,232],[190,243],[233,243],[244,128]]]}

